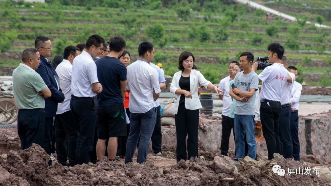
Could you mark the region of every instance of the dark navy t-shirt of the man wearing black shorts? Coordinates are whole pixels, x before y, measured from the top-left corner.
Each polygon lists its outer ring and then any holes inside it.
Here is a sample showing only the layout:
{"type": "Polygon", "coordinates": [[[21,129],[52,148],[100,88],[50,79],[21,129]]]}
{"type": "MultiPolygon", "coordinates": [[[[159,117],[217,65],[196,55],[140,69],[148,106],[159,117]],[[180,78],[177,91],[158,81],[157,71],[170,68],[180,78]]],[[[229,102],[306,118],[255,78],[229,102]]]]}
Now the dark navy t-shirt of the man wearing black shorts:
{"type": "Polygon", "coordinates": [[[126,80],[126,67],[117,58],[102,57],[98,59],[98,80],[102,85],[102,92],[97,95],[98,106],[108,106],[114,103],[123,103],[120,91],[120,81],[126,80]]]}

